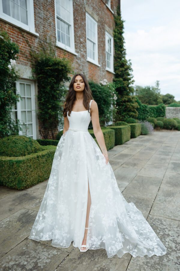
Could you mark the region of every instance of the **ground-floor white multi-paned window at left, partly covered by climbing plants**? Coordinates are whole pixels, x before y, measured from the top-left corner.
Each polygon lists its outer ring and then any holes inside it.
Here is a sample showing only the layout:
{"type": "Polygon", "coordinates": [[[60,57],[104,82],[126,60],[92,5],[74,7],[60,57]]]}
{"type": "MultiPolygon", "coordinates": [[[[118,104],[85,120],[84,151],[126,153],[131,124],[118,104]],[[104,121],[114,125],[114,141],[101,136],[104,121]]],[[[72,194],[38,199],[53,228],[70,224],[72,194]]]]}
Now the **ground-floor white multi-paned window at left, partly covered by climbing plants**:
{"type": "Polygon", "coordinates": [[[16,81],[16,92],[21,99],[11,111],[13,120],[19,119],[22,131],[19,135],[25,135],[36,139],[36,114],[35,114],[35,85],[28,80],[16,81]]]}

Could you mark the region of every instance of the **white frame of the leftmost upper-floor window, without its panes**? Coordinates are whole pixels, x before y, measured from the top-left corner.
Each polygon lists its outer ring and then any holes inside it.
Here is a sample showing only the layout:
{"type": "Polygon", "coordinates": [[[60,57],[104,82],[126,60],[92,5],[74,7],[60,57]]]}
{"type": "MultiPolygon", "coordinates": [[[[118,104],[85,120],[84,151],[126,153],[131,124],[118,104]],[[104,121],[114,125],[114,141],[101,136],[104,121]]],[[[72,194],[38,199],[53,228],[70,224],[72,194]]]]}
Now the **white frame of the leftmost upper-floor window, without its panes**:
{"type": "Polygon", "coordinates": [[[25,30],[29,33],[32,33],[35,36],[39,36],[39,34],[35,32],[33,0],[27,0],[27,9],[28,9],[28,25],[20,22],[19,20],[16,20],[15,18],[13,18],[5,13],[3,13],[2,0],[0,0],[0,19],[5,21],[6,23],[10,23],[14,26],[18,26],[22,30],[25,30]]]}

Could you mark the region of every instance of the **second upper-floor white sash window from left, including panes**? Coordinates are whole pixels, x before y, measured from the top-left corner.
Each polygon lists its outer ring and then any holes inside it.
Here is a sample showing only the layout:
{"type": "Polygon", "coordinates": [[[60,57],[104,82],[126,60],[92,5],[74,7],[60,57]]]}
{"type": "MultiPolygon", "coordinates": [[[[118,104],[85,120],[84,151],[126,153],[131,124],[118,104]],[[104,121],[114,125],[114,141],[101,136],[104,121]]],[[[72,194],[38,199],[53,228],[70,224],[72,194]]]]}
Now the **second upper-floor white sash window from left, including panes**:
{"type": "Polygon", "coordinates": [[[74,55],[73,1],[55,0],[56,45],[74,55]]]}

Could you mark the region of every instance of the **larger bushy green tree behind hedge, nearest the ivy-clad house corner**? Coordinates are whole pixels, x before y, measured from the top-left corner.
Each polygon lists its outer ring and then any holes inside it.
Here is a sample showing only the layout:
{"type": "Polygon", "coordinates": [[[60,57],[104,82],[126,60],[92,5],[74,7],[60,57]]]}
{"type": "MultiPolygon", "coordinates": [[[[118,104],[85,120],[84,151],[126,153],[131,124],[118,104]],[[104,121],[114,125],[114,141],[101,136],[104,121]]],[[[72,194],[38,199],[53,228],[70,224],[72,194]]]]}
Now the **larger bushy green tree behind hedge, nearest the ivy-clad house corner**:
{"type": "Polygon", "coordinates": [[[163,102],[158,80],[155,82],[155,86],[135,86],[135,92],[143,104],[157,105],[163,102]]]}

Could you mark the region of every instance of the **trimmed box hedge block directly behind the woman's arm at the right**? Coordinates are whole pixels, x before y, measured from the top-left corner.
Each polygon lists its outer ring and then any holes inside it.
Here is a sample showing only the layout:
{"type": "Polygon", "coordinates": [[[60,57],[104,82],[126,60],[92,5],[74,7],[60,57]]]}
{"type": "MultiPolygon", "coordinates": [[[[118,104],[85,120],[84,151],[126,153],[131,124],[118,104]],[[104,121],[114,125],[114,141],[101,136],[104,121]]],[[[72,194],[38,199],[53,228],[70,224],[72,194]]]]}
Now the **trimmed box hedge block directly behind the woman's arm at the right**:
{"type": "MultiPolygon", "coordinates": [[[[115,145],[115,132],[110,128],[103,128],[103,127],[101,127],[101,130],[103,132],[105,145],[106,145],[106,148],[108,151],[108,150],[112,149],[115,145]]],[[[93,129],[88,129],[88,132],[94,138],[95,142],[98,144],[98,141],[95,137],[93,129]]],[[[99,146],[99,144],[98,144],[98,146],[99,146]]],[[[100,148],[100,146],[99,146],[99,148],[100,148]]]]}

